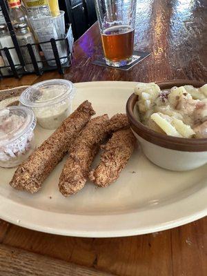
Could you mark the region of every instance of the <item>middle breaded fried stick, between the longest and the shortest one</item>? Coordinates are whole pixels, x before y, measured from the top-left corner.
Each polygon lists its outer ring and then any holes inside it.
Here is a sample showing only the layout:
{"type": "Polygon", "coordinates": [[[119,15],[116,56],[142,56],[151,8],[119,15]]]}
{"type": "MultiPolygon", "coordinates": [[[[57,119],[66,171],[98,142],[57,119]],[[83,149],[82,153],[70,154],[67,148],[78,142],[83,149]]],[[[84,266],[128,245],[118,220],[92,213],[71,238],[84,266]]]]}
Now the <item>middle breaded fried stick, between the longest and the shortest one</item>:
{"type": "Polygon", "coordinates": [[[90,164],[108,134],[109,124],[108,115],[91,119],[70,148],[59,179],[59,190],[65,197],[77,193],[86,184],[90,164]]]}

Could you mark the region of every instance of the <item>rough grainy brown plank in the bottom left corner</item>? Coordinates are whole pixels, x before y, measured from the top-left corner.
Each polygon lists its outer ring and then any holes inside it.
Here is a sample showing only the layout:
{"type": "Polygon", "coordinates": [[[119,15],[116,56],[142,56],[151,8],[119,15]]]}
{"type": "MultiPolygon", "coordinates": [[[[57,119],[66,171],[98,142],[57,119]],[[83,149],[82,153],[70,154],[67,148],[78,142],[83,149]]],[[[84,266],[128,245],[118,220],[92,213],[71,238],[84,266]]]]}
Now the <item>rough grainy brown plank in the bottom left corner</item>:
{"type": "MultiPolygon", "coordinates": [[[[11,246],[0,245],[0,275],[3,276],[113,276],[92,268],[68,264],[11,246]]],[[[114,275],[115,276],[115,275],[114,275]]]]}

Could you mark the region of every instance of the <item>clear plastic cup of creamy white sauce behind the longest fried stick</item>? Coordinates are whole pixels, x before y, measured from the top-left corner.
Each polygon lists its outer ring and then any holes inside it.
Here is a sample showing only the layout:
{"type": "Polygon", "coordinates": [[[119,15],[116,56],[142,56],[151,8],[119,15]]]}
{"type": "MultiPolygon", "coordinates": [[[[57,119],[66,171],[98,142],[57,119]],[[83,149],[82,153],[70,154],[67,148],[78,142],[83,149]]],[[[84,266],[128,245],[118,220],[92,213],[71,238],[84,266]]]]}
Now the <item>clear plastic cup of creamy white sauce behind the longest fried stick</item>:
{"type": "Polygon", "coordinates": [[[74,95],[75,87],[71,81],[52,79],[27,88],[19,101],[32,108],[42,128],[55,129],[71,114],[74,95]]]}

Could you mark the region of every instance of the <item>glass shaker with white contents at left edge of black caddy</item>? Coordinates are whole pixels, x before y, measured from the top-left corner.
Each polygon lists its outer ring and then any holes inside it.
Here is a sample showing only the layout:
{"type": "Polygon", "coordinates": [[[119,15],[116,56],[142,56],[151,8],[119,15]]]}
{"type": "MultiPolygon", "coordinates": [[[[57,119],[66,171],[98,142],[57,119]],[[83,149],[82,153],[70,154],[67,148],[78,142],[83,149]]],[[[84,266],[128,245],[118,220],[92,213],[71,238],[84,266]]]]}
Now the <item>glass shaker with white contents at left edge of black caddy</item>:
{"type": "MultiPolygon", "coordinates": [[[[4,48],[10,48],[10,47],[14,47],[14,43],[12,41],[12,38],[10,36],[10,33],[8,32],[8,28],[6,26],[6,24],[1,24],[0,25],[0,47],[4,48]]],[[[15,49],[10,49],[10,56],[12,57],[12,61],[14,63],[14,65],[19,64],[19,66],[15,66],[16,68],[20,68],[20,61],[19,61],[19,57],[17,56],[17,52],[15,49]]],[[[3,58],[3,61],[5,63],[5,66],[9,66],[8,63],[8,59],[5,55],[5,52],[3,50],[1,50],[1,56],[3,58]]]]}

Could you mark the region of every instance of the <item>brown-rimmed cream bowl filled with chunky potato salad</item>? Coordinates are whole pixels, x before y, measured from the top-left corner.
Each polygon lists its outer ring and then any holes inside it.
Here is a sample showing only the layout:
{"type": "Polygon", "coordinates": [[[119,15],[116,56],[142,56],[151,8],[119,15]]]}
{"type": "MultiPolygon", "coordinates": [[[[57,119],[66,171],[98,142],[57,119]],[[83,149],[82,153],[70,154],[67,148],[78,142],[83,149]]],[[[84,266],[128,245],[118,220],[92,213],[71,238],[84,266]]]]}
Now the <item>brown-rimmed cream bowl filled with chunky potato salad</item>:
{"type": "Polygon", "coordinates": [[[144,155],[157,166],[192,170],[207,163],[206,83],[137,83],[126,113],[144,155]]]}

